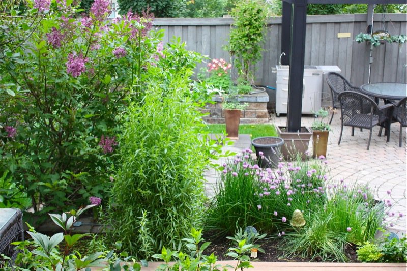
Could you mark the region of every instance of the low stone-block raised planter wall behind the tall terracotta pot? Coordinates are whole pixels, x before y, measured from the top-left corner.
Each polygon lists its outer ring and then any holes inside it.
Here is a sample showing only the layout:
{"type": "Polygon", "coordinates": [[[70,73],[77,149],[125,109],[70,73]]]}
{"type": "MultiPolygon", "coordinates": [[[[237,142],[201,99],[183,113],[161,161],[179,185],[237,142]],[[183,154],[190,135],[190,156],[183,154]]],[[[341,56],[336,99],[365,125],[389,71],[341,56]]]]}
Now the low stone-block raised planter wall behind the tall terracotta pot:
{"type": "MultiPolygon", "coordinates": [[[[225,114],[222,109],[222,98],[215,96],[212,99],[214,104],[207,104],[205,109],[202,109],[202,113],[207,114],[203,117],[203,120],[209,124],[225,123],[225,114]]],[[[268,123],[269,114],[267,113],[267,102],[269,101],[269,95],[266,92],[257,94],[243,95],[239,98],[242,103],[248,103],[249,105],[240,113],[240,123],[268,123]]]]}

